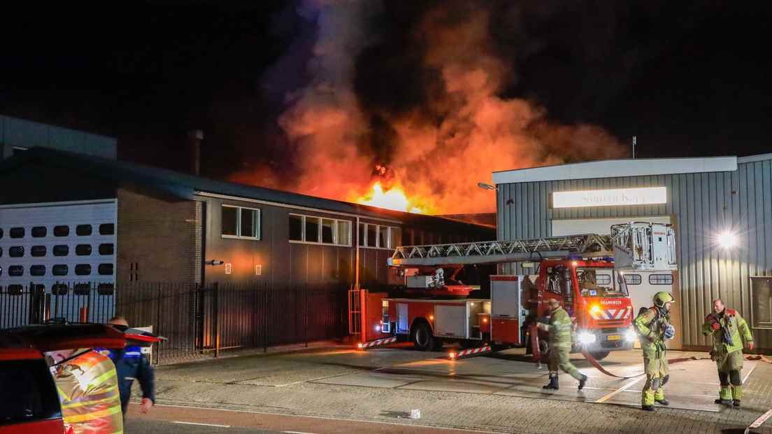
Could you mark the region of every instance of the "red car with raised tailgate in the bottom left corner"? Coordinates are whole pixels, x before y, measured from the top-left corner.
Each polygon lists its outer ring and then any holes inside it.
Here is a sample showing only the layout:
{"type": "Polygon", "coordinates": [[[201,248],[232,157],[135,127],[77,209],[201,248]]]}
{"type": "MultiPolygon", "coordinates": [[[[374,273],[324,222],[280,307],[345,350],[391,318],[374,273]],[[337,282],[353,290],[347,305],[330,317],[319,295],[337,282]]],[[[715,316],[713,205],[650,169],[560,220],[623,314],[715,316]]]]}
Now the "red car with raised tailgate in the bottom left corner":
{"type": "Polygon", "coordinates": [[[0,331],[0,434],[66,433],[45,352],[124,348],[127,340],[158,341],[104,324],[32,325],[0,331]]]}

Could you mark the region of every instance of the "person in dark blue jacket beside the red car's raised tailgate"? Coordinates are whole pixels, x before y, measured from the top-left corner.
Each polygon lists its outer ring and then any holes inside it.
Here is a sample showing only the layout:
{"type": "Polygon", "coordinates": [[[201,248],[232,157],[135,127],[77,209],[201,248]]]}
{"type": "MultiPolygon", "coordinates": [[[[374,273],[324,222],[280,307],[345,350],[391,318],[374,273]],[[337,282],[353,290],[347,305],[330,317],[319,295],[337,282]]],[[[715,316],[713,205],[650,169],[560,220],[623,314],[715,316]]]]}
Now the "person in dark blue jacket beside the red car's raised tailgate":
{"type": "MultiPolygon", "coordinates": [[[[116,326],[120,330],[126,330],[129,324],[124,317],[113,317],[107,324],[116,326]]],[[[150,361],[142,355],[142,348],[127,346],[122,350],[110,350],[99,348],[102,354],[107,355],[115,364],[118,373],[118,388],[120,390],[120,409],[126,415],[131,396],[131,385],[134,380],[140,382],[142,389],[141,411],[147,413],[155,404],[155,375],[150,361]]]]}

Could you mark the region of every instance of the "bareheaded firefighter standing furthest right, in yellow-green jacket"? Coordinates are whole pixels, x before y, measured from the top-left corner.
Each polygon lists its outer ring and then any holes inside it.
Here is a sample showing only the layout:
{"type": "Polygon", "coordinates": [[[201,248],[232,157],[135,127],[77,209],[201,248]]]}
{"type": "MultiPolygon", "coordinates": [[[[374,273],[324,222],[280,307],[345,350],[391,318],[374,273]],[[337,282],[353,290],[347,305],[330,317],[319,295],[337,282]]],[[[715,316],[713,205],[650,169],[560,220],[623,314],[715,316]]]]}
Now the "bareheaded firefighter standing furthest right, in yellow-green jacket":
{"type": "Polygon", "coordinates": [[[721,299],[713,300],[713,314],[705,317],[703,334],[713,335],[710,359],[716,361],[721,390],[716,404],[740,407],[743,398],[743,341],[753,350],[750,327],[734,309],[726,309],[721,299]]]}

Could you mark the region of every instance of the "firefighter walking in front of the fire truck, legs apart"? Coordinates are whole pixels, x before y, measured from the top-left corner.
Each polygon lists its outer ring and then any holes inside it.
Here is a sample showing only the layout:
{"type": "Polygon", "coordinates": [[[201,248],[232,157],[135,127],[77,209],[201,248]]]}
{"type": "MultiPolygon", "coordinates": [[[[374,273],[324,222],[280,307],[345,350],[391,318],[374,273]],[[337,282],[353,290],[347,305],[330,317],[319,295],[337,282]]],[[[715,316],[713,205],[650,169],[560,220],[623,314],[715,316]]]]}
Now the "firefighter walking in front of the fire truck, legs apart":
{"type": "Polygon", "coordinates": [[[557,381],[557,370],[560,369],[579,380],[579,390],[581,390],[584,388],[584,383],[587,382],[587,375],[581,374],[569,358],[571,352],[571,317],[568,316],[566,310],[560,307],[559,301],[551,298],[549,303],[549,324],[539,323],[537,326],[540,330],[550,333],[550,382],[543,388],[555,390],[560,388],[557,381]]]}

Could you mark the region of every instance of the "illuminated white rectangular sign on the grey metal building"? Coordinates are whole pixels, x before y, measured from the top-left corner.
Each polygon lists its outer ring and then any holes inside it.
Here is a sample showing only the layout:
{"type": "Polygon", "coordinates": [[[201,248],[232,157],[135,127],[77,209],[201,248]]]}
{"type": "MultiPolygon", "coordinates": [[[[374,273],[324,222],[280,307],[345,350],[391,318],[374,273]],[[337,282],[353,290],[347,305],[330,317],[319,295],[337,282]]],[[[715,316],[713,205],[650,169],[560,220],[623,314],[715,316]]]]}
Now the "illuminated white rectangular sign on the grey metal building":
{"type": "Polygon", "coordinates": [[[656,205],[668,202],[666,187],[615,188],[552,193],[553,208],[584,206],[656,205]]]}

